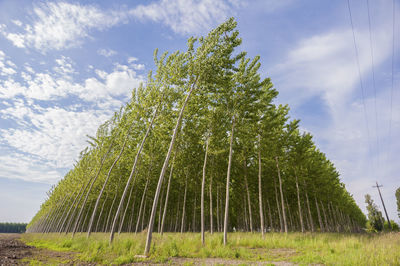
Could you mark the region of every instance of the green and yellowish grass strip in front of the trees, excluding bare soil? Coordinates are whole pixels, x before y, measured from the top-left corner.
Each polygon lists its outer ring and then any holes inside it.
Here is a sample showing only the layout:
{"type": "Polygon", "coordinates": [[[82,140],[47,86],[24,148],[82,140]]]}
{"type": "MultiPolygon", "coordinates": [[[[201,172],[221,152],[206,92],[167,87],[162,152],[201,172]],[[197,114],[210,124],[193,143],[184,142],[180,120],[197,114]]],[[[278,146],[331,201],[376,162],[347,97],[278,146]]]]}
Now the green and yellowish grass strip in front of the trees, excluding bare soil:
{"type": "MultiPolygon", "coordinates": [[[[24,234],[29,245],[56,251],[74,251],[82,261],[100,264],[125,264],[140,261],[174,263],[177,259],[219,258],[218,263],[235,261],[292,262],[300,265],[400,265],[400,233],[386,234],[301,234],[268,233],[264,238],[254,233],[230,233],[229,245],[222,244],[222,234],[206,234],[203,247],[199,233],[153,234],[150,257],[137,258],[144,250],[146,235],[121,234],[112,245],[108,234],[86,234],[74,238],[65,234],[24,234]],[[221,260],[224,259],[224,260],[221,260]]],[[[208,261],[209,262],[209,261],[208,261]]]]}

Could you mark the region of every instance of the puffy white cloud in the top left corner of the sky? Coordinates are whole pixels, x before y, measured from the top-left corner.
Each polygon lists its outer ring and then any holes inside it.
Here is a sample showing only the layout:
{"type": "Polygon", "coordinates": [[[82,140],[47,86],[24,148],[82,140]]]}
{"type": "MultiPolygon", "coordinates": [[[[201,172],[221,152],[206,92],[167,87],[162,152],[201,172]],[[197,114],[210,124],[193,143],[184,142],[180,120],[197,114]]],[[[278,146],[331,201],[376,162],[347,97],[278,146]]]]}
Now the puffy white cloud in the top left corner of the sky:
{"type": "Polygon", "coordinates": [[[24,32],[8,33],[4,27],[0,32],[17,47],[60,50],[79,46],[92,29],[105,30],[125,19],[123,13],[65,2],[42,3],[33,14],[33,24],[25,25],[24,32]]]}

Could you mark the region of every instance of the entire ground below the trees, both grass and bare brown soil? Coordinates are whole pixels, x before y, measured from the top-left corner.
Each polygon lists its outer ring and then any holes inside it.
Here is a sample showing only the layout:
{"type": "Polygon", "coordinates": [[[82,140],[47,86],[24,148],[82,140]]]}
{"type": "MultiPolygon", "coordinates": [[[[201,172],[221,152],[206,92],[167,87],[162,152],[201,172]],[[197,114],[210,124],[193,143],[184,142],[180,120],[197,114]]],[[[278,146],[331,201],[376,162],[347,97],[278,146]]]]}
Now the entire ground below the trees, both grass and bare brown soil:
{"type": "Polygon", "coordinates": [[[400,265],[400,233],[0,234],[1,265],[400,265]]]}

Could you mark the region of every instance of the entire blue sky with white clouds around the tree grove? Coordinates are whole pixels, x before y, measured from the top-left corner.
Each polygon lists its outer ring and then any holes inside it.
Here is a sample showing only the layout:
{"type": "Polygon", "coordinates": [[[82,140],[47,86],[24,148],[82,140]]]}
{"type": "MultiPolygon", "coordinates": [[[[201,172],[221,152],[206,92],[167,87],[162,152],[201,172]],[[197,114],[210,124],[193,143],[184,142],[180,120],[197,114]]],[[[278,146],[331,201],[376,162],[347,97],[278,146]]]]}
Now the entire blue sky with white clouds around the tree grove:
{"type": "Polygon", "coordinates": [[[289,104],[361,209],[369,193],[383,212],[377,181],[399,222],[399,8],[391,0],[1,0],[0,222],[31,220],[87,135],[146,81],[154,49],[184,50],[188,37],[232,16],[241,49],[261,56],[262,77],[279,91],[276,103],[289,104]]]}

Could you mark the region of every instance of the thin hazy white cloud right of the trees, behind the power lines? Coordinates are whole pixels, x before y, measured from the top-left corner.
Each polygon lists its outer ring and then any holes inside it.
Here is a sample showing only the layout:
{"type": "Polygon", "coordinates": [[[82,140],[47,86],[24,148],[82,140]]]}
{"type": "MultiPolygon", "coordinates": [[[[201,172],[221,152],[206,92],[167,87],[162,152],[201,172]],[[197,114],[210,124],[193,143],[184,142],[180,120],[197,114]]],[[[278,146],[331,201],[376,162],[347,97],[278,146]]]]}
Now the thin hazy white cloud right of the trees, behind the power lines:
{"type": "MultiPolygon", "coordinates": [[[[386,82],[385,75],[388,74],[385,73],[387,69],[384,63],[390,60],[392,49],[391,31],[387,31],[391,23],[389,20],[376,14],[373,31],[375,74],[383,77],[382,81],[386,82]]],[[[357,204],[365,211],[364,195],[373,194],[371,191],[375,180],[384,184],[396,183],[392,177],[397,176],[400,170],[395,154],[400,144],[393,140],[388,143],[389,86],[377,84],[374,98],[368,28],[356,29],[355,35],[366,113],[351,29],[336,29],[299,40],[287,52],[283,62],[272,66],[269,73],[279,89],[279,101],[289,103],[291,112],[299,114],[300,118],[304,114],[317,113],[313,114],[319,117],[316,121],[307,124],[307,120],[303,120],[302,126],[313,132],[317,146],[334,162],[347,189],[354,194],[357,204]],[[302,111],[299,107],[304,107],[305,102],[322,105],[324,108],[302,111]],[[377,135],[380,139],[379,147],[377,135]]],[[[400,135],[400,108],[395,105],[393,108],[392,139],[400,135]]],[[[395,213],[394,188],[387,189],[391,193],[387,194],[387,208],[389,212],[395,213]]],[[[379,198],[375,197],[375,200],[379,201],[379,198]]],[[[391,218],[395,217],[392,215],[391,218]]]]}

